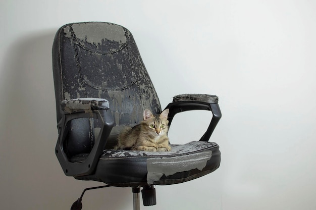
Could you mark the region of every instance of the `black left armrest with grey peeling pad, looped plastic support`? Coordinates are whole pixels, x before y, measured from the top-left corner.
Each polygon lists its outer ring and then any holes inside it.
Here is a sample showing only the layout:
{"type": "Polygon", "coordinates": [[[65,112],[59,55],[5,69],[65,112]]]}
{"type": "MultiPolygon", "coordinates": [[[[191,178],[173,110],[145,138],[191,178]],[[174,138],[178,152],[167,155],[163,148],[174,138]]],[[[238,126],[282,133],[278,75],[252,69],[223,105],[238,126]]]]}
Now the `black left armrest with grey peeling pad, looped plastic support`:
{"type": "Polygon", "coordinates": [[[56,145],[56,155],[67,176],[83,176],[91,174],[98,163],[107,139],[114,126],[114,119],[110,112],[109,101],[100,98],[77,98],[63,100],[61,102],[64,114],[58,123],[59,137],[56,145]],[[69,122],[76,118],[96,118],[102,123],[98,137],[94,140],[94,146],[84,162],[72,163],[64,151],[69,122]]]}

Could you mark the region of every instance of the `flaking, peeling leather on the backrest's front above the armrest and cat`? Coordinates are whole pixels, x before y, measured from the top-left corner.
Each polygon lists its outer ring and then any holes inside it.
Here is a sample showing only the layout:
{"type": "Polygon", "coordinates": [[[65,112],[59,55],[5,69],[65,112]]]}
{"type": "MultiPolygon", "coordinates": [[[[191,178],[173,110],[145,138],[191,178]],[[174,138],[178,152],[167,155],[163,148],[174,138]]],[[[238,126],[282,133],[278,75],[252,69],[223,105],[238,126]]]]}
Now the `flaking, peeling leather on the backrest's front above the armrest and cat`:
{"type": "Polygon", "coordinates": [[[112,23],[76,23],[65,25],[59,34],[60,59],[67,60],[60,64],[60,101],[107,99],[116,125],[137,124],[143,109],[161,112],[159,98],[126,28],[112,23]]]}

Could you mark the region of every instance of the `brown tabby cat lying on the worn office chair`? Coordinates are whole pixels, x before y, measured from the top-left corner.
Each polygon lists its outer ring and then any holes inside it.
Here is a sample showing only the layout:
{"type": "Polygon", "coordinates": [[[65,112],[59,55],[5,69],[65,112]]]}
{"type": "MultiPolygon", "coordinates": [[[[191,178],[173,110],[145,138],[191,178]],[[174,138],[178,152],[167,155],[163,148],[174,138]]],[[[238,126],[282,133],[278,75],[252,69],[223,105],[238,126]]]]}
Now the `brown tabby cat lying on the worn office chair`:
{"type": "Polygon", "coordinates": [[[169,109],[154,116],[149,110],[144,110],[144,120],[120,133],[115,149],[130,149],[142,151],[170,151],[168,137],[169,109]]]}

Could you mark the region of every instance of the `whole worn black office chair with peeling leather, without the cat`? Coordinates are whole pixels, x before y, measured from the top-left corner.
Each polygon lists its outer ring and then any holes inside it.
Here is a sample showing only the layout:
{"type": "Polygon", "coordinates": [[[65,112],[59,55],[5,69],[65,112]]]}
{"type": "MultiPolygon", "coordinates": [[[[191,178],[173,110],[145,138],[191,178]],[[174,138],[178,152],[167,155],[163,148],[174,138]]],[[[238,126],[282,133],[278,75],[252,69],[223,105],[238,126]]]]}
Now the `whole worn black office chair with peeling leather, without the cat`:
{"type": "MultiPolygon", "coordinates": [[[[139,209],[141,187],[144,205],[154,205],[154,185],[190,181],[219,168],[219,146],[208,142],[221,118],[215,95],[177,95],[166,107],[169,125],[180,112],[212,111],[197,141],[173,145],[171,139],[171,151],[113,149],[124,127],[143,120],[144,109],[163,111],[126,28],[103,22],[64,25],[54,39],[52,64],[59,132],[55,151],[67,176],[132,187],[134,209],[139,209]]],[[[72,209],[81,209],[81,198],[72,209]]]]}

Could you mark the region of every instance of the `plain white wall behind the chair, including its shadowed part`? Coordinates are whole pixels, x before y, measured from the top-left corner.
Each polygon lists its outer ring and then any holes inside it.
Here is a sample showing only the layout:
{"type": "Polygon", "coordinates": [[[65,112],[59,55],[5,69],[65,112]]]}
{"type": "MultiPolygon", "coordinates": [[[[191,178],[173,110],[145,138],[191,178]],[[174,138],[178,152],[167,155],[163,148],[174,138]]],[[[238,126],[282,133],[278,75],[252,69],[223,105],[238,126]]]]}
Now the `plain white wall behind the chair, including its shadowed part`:
{"type": "MultiPolygon", "coordinates": [[[[156,186],[142,209],[316,209],[314,1],[1,1],[0,205],[70,209],[85,187],[66,177],[51,45],[64,24],[112,22],[136,40],[162,107],[181,93],[217,94],[211,141],[221,167],[156,186]]],[[[208,115],[179,115],[173,142],[198,140],[208,115]]],[[[83,209],[132,209],[130,188],[86,192],[83,209]]]]}

